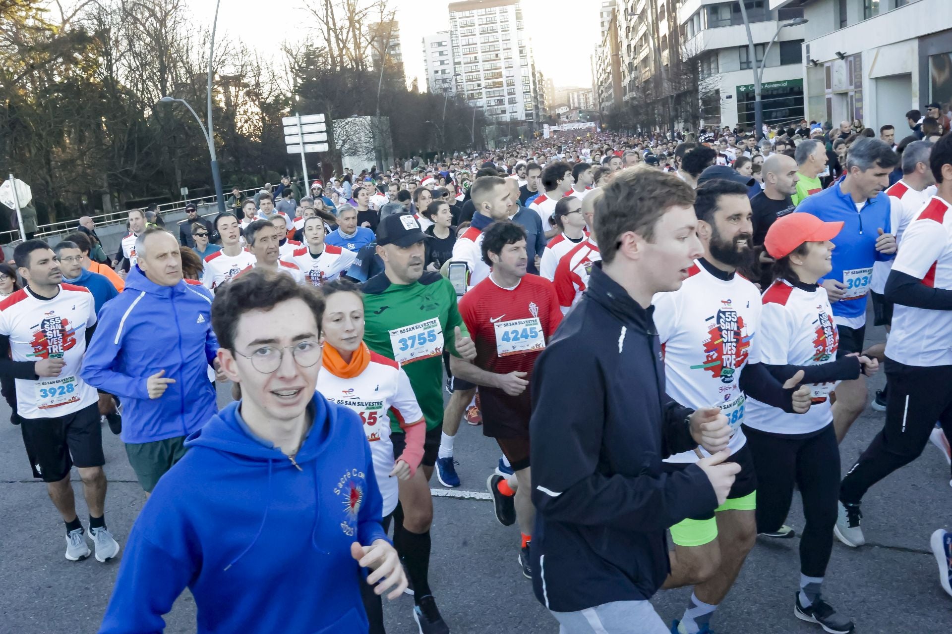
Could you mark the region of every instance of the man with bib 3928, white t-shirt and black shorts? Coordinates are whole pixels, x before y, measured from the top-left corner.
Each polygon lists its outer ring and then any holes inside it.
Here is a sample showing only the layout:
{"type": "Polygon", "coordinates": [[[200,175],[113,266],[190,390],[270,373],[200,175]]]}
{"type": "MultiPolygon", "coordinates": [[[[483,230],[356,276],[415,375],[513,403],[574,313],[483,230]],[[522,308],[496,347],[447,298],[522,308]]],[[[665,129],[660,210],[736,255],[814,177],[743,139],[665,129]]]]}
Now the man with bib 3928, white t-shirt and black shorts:
{"type": "Polygon", "coordinates": [[[23,444],[33,477],[47,483],[66,524],[66,558],[89,557],[69,477],[75,465],[96,560],[105,562],[119,553],[119,544],[106,528],[99,397],[73,374],[83,367],[96,326],[93,298],[87,289],[63,283],[59,263],[42,240],[21,242],[13,259],[26,287],[0,301],[0,374],[15,379],[14,411],[23,444]]]}

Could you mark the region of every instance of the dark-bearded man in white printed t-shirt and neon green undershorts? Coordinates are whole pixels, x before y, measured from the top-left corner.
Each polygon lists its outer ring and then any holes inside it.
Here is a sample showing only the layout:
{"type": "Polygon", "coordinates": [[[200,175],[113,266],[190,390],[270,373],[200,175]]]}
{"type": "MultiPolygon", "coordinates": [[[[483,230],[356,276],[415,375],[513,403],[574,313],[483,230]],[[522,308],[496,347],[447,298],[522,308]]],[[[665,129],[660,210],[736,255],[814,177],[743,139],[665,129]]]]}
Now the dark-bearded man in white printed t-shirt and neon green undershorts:
{"type": "MultiPolygon", "coordinates": [[[[741,466],[727,499],[713,512],[692,515],[671,527],[675,548],[664,587],[694,586],[684,617],[672,631],[695,634],[707,627],[733,585],[757,531],[757,477],[740,429],[747,394],[785,412],[806,412],[809,389],[797,391],[802,373],[783,386],[760,363],[761,297],[737,269],[753,259],[750,199],[743,183],[712,179],[698,187],[694,212],[704,256],[673,293],[654,298],[654,318],[664,351],[667,392],[702,409],[718,404],[734,432],[727,449],[741,466]]],[[[668,463],[693,463],[704,452],[682,451],[668,463]]]]}

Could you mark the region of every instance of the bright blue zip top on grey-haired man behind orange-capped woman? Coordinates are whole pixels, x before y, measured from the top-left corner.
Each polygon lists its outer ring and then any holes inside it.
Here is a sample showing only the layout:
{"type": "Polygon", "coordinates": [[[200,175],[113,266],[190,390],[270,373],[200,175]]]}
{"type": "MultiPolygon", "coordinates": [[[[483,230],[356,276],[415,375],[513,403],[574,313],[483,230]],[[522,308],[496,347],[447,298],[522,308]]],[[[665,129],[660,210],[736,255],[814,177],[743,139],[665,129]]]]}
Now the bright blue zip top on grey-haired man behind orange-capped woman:
{"type": "MultiPolygon", "coordinates": [[[[842,182],[824,189],[803,200],[797,205],[798,212],[813,214],[824,222],[843,221],[843,229],[832,240],[836,245],[833,250],[833,270],[823,279],[843,281],[843,271],[870,269],[866,274],[865,286],[872,279],[873,262],[877,260],[893,259],[876,250],[876,240],[879,240],[878,229],[883,233],[892,233],[890,223],[889,196],[880,192],[876,198],[869,199],[861,211],[856,210],[853,197],[840,188],[842,182]]],[[[823,283],[820,279],[819,283],[823,283]]],[[[832,304],[835,317],[862,317],[866,314],[866,294],[858,298],[841,299],[832,304]]]]}

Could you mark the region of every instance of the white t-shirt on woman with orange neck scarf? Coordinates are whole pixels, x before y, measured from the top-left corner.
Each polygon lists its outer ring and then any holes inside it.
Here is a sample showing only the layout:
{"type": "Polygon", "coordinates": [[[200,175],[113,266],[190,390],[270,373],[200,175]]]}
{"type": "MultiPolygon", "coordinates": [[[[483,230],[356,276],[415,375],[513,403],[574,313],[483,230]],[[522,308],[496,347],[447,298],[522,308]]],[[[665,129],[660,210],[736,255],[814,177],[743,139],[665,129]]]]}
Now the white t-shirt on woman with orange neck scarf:
{"type": "Polygon", "coordinates": [[[327,400],[350,408],[364,421],[373,471],[384,498],[383,514],[389,515],[397,507],[398,495],[397,478],[389,477],[395,463],[390,413],[399,422],[426,425],[407,373],[396,361],[371,352],[367,369],[353,378],[341,378],[322,369],[317,375],[317,391],[327,400]]]}

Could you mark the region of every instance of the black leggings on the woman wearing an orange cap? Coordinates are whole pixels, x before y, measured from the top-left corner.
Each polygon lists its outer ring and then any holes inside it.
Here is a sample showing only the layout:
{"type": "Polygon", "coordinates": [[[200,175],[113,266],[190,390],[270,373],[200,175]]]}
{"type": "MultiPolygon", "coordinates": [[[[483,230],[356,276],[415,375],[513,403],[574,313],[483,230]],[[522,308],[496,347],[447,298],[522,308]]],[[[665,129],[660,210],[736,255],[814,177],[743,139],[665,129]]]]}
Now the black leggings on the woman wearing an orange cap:
{"type": "Polygon", "coordinates": [[[830,423],[804,435],[770,433],[744,425],[757,471],[757,532],[783,526],[796,483],[806,526],[800,539],[800,571],[823,577],[833,549],[840,490],[840,448],[830,423]]]}

